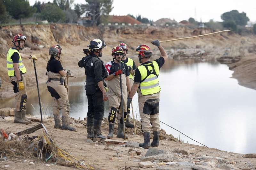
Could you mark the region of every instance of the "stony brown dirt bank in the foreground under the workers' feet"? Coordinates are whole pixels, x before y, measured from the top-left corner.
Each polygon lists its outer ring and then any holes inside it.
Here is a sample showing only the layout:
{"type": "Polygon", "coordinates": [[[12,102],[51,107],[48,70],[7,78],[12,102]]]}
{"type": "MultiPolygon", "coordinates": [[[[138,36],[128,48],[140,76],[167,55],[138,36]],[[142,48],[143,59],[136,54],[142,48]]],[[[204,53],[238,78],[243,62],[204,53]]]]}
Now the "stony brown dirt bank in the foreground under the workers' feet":
{"type": "MultiPolygon", "coordinates": [[[[29,125],[22,125],[13,122],[7,122],[0,119],[1,128],[8,129],[10,132],[18,132],[35,126],[38,122],[32,122],[29,125]]],[[[172,142],[166,140],[159,141],[159,150],[164,155],[155,157],[145,157],[148,149],[135,148],[132,149],[141,152],[137,155],[135,152],[127,153],[130,147],[123,145],[106,145],[104,143],[86,142],[86,128],[84,125],[72,121],[72,126],[76,128],[76,132],[53,128],[54,121],[49,118],[44,123],[50,136],[60,148],[71,153],[78,160],[84,160],[85,164],[93,166],[95,169],[145,169],[139,166],[140,162],[151,160],[153,165],[146,169],[254,169],[256,167],[255,158],[245,158],[244,154],[221,151],[215,148],[206,148],[193,144],[180,142],[172,142]],[[183,150],[183,151],[182,151],[183,150]],[[187,151],[189,153],[186,153],[187,151]],[[182,152],[182,153],[180,153],[182,152]],[[168,156],[166,155],[168,154],[168,156]],[[165,157],[164,157],[165,156],[165,157]],[[161,158],[160,158],[161,157],[161,158]],[[170,163],[173,162],[173,163],[170,163]],[[170,165],[166,163],[169,162],[170,165]],[[172,165],[171,165],[172,164],[172,165]],[[129,168],[128,168],[129,167],[129,168]]],[[[42,134],[42,129],[37,130],[28,137],[42,134]]],[[[108,126],[105,122],[102,124],[102,134],[108,134],[108,126]]],[[[27,136],[27,135],[25,135],[27,136]]],[[[143,136],[128,134],[127,141],[143,142],[143,136]]],[[[115,140],[123,140],[116,138],[115,140]]],[[[152,141],[152,139],[151,139],[152,141]]],[[[155,151],[156,152],[156,151],[155,151]]],[[[148,155],[148,153],[147,153],[148,155]]],[[[63,169],[64,166],[54,162],[44,162],[42,159],[19,157],[15,159],[1,159],[0,167],[5,169],[63,169]],[[32,163],[31,163],[32,162],[32,163]],[[8,168],[7,168],[8,166],[8,168]]],[[[73,169],[73,167],[65,167],[65,169],[73,169]]]]}

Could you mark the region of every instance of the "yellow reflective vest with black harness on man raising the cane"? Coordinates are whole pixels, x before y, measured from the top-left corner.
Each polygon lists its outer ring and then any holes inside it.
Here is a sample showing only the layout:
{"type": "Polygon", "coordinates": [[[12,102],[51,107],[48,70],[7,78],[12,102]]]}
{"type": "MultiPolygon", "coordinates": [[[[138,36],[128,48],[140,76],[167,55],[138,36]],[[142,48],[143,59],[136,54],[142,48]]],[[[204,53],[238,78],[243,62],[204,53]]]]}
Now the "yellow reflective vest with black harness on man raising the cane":
{"type": "Polygon", "coordinates": [[[159,66],[156,61],[138,67],[141,75],[140,91],[142,95],[155,94],[161,91],[159,86],[159,66]],[[153,67],[152,67],[153,66],[153,67]],[[146,69],[148,68],[148,70],[146,69]]]}

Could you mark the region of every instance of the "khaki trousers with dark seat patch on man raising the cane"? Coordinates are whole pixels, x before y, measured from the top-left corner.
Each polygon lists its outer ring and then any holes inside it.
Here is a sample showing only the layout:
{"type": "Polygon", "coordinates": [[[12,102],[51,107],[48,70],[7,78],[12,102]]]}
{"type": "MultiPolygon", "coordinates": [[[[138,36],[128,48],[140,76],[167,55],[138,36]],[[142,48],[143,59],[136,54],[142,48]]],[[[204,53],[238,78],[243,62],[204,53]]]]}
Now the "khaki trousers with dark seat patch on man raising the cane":
{"type": "Polygon", "coordinates": [[[160,131],[159,99],[159,92],[156,94],[143,96],[140,92],[140,89],[138,90],[138,102],[142,133],[150,132],[150,129],[152,129],[153,132],[160,131]]]}

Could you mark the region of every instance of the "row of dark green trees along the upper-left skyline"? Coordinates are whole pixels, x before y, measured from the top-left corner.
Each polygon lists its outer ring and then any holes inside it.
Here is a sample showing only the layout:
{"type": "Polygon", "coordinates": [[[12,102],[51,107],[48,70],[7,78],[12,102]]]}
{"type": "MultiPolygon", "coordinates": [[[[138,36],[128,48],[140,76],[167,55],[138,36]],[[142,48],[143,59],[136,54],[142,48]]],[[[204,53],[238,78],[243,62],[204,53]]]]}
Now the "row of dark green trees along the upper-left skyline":
{"type": "Polygon", "coordinates": [[[39,0],[33,6],[28,0],[0,0],[0,24],[10,18],[20,20],[34,15],[48,22],[75,23],[83,14],[90,17],[92,25],[99,25],[112,11],[113,0],[85,0],[85,4],[74,4],[74,0],[53,0],[44,3],[39,0]]]}

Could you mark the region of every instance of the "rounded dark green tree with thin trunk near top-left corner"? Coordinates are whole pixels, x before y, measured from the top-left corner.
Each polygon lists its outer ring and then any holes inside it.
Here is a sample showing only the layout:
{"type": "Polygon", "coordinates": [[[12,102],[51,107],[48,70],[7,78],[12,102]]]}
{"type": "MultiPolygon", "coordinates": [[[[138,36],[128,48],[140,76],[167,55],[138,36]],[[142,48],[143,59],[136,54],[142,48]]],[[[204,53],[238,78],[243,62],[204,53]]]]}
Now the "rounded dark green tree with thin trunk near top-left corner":
{"type": "Polygon", "coordinates": [[[36,12],[36,8],[29,5],[28,0],[4,0],[6,10],[14,19],[28,18],[36,12]]]}

